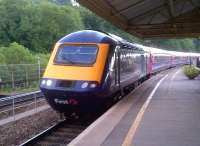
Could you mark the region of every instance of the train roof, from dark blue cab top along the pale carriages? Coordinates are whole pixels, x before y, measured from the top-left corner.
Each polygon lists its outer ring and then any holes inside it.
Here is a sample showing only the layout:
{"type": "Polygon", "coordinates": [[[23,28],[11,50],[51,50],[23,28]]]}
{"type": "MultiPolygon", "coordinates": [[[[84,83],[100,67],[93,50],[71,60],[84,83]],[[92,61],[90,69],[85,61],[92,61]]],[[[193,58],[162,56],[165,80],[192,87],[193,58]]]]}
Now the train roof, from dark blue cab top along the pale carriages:
{"type": "Polygon", "coordinates": [[[166,54],[166,55],[175,55],[175,56],[200,56],[199,53],[184,53],[176,51],[167,51],[163,49],[158,49],[155,47],[148,47],[137,43],[130,43],[123,38],[116,36],[111,33],[95,30],[81,30],[77,32],[70,33],[63,38],[61,38],[59,43],[109,43],[113,45],[120,44],[123,47],[129,49],[139,49],[145,52],[151,52],[153,54],[166,54]]]}

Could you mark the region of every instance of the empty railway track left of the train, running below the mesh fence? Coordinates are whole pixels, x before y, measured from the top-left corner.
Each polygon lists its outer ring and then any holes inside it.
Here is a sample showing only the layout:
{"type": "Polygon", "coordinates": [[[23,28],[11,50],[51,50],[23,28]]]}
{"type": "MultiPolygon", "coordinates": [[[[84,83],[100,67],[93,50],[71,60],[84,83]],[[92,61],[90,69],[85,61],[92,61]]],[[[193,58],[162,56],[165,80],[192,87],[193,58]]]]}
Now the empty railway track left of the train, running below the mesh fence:
{"type": "Polygon", "coordinates": [[[41,91],[35,91],[25,94],[18,94],[9,97],[0,98],[0,109],[6,106],[10,106],[14,104],[19,104],[27,101],[34,100],[35,98],[44,98],[41,91]]]}

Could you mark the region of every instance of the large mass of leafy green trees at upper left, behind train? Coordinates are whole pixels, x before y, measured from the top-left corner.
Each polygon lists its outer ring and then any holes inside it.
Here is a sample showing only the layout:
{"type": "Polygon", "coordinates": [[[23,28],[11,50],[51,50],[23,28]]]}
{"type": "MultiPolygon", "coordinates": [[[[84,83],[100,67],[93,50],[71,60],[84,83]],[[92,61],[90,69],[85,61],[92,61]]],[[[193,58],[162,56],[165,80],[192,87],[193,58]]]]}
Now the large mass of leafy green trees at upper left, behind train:
{"type": "Polygon", "coordinates": [[[18,42],[35,52],[47,52],[62,36],[83,29],[72,6],[47,1],[0,1],[0,44],[18,42]]]}

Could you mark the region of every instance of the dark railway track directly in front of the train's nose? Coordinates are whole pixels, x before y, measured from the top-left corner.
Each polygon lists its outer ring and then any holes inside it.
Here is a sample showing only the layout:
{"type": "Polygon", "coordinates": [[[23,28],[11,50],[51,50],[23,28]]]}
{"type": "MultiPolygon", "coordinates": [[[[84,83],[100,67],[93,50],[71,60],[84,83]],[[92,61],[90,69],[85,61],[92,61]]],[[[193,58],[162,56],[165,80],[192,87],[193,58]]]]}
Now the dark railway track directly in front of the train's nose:
{"type": "Polygon", "coordinates": [[[66,146],[92,121],[60,121],[19,146],[66,146]]]}

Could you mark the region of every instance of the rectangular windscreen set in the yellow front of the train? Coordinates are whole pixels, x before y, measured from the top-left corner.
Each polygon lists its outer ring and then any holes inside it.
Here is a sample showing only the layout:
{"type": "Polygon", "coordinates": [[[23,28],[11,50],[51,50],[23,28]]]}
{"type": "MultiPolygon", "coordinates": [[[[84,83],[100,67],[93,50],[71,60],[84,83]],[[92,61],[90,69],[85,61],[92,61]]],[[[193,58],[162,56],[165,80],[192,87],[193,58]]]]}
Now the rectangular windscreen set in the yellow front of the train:
{"type": "Polygon", "coordinates": [[[54,62],[56,64],[92,65],[96,61],[96,46],[60,46],[54,62]]]}

